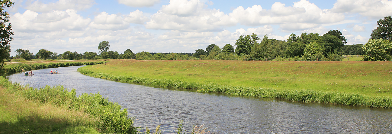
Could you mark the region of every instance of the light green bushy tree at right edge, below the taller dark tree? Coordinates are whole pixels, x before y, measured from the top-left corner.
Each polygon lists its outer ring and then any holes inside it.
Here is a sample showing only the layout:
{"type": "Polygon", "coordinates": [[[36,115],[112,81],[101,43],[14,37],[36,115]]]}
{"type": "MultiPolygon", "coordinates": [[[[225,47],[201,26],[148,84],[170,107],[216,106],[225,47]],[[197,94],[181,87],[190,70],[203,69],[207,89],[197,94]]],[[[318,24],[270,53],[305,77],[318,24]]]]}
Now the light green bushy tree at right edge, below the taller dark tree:
{"type": "Polygon", "coordinates": [[[369,39],[362,49],[365,52],[363,56],[365,61],[391,60],[392,42],[387,39],[369,39]]]}

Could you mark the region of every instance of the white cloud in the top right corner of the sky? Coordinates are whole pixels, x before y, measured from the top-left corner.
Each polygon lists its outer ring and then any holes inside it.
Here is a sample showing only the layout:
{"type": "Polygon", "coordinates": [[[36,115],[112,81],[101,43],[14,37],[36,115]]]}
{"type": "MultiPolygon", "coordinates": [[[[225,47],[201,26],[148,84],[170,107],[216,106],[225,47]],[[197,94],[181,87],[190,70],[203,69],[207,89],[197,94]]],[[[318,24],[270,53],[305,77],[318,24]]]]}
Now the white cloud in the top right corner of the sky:
{"type": "Polygon", "coordinates": [[[337,0],[331,11],[338,13],[359,13],[363,16],[379,19],[392,15],[390,0],[337,0]]]}

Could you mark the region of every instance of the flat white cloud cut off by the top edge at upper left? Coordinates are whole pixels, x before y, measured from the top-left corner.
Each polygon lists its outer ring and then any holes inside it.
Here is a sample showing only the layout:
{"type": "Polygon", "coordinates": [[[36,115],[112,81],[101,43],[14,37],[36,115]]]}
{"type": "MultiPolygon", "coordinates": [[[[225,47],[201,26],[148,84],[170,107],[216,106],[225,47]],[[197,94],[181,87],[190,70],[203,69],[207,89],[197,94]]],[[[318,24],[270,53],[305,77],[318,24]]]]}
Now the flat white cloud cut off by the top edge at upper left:
{"type": "Polygon", "coordinates": [[[55,3],[44,4],[40,0],[36,0],[33,3],[26,3],[25,9],[34,12],[49,12],[53,10],[84,10],[92,7],[95,2],[94,0],[59,0],[55,3]]]}

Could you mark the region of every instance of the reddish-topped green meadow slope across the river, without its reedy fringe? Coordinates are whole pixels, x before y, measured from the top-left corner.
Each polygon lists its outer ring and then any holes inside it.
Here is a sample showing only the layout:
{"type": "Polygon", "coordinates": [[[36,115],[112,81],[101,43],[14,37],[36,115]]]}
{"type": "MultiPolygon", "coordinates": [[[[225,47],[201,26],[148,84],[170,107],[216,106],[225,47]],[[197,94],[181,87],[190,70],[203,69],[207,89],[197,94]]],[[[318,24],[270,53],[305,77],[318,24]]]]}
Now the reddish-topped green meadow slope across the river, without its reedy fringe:
{"type": "Polygon", "coordinates": [[[392,62],[112,60],[94,72],[229,86],[391,97],[392,62]]]}

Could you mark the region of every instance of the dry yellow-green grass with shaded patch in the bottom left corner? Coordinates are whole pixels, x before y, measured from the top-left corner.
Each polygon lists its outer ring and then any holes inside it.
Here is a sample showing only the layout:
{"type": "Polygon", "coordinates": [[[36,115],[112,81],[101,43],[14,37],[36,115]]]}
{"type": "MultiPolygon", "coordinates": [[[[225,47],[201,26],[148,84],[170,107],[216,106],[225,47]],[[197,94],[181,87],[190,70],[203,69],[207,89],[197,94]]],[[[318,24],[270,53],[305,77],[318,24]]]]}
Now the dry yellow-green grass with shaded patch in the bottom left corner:
{"type": "Polygon", "coordinates": [[[87,113],[40,104],[0,87],[0,134],[100,134],[87,113]]]}

